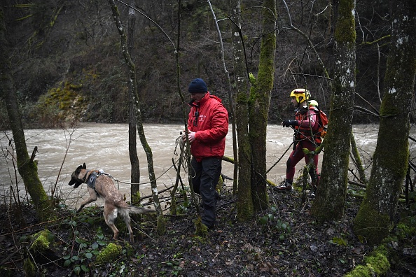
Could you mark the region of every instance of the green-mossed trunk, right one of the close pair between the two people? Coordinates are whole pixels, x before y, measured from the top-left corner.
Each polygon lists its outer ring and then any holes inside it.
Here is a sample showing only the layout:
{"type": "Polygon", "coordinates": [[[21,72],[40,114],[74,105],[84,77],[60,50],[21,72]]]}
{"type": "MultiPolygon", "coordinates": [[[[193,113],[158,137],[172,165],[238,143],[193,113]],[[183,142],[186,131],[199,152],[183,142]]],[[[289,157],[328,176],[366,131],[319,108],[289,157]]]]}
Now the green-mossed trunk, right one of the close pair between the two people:
{"type": "Polygon", "coordinates": [[[250,89],[249,134],[252,153],[251,196],[254,208],[268,208],[266,190],[266,133],[270,94],[275,80],[276,1],[263,1],[263,24],[257,80],[250,89]]]}

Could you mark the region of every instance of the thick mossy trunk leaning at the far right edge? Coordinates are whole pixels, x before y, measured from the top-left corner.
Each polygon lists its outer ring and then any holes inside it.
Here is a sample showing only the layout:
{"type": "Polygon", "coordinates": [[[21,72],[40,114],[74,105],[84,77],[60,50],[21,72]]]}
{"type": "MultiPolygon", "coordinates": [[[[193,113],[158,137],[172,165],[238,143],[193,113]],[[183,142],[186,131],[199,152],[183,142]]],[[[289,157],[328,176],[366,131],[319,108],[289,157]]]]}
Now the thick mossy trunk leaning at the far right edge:
{"type": "Polygon", "coordinates": [[[415,93],[416,7],[414,1],[391,2],[391,43],[380,107],[380,128],[373,167],[354,232],[370,244],[388,236],[394,223],[409,157],[411,99],[415,93]]]}

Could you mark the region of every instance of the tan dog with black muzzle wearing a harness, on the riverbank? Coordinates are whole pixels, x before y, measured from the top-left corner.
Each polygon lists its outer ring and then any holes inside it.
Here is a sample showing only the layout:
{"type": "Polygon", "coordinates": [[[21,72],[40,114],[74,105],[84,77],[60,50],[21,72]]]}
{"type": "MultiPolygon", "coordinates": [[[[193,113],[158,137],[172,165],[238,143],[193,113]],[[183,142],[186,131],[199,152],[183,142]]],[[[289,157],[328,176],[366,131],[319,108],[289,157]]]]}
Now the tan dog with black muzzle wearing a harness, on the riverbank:
{"type": "Polygon", "coordinates": [[[118,229],[116,225],[114,225],[114,221],[116,220],[118,213],[120,213],[129,230],[130,242],[133,243],[134,236],[132,227],[130,226],[130,213],[155,213],[155,211],[127,204],[123,199],[123,195],[117,190],[109,174],[102,173],[102,171],[98,170],[87,170],[85,163],[82,166],[78,166],[74,173],[71,174],[69,185],[74,185],[74,188],[76,188],[83,183],[88,184],[90,197],[81,203],[81,206],[76,212],[79,213],[85,205],[96,201],[97,197],[101,197],[104,199],[104,220],[113,230],[113,239],[118,239],[118,229]]]}

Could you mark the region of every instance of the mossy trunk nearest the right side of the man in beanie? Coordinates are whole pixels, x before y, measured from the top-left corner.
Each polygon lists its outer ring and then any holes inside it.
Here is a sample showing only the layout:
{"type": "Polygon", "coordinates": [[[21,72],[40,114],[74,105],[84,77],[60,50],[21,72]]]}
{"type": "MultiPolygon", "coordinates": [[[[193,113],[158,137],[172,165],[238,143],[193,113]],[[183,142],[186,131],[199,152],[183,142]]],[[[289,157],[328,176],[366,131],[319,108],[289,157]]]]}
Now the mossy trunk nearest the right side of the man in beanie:
{"type": "Polygon", "coordinates": [[[245,64],[245,55],[242,37],[240,36],[240,0],[232,0],[231,34],[233,36],[234,57],[234,82],[236,88],[235,115],[237,125],[238,141],[238,186],[234,187],[237,192],[237,220],[240,222],[249,220],[253,216],[254,207],[251,199],[251,146],[249,138],[249,90],[248,76],[245,64]]]}

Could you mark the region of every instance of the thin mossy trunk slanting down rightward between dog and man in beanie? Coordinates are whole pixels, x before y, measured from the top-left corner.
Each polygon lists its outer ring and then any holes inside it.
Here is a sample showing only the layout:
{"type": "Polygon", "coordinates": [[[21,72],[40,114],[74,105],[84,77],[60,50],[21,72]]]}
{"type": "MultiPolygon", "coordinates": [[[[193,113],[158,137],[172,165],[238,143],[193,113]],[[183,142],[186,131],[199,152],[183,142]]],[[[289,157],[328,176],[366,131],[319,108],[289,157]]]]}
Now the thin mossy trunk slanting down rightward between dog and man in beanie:
{"type": "Polygon", "coordinates": [[[132,62],[132,59],[130,57],[130,53],[128,51],[127,37],[125,35],[123,24],[121,24],[121,21],[120,21],[120,13],[118,12],[116,3],[114,3],[114,0],[109,0],[109,3],[111,6],[111,10],[113,12],[113,17],[116,23],[116,27],[118,29],[118,33],[120,34],[123,57],[125,58],[125,62],[127,66],[129,67],[129,72],[130,72],[129,78],[131,79],[130,82],[132,83],[134,87],[134,90],[132,91],[134,92],[135,99],[132,99],[132,101],[134,101],[134,104],[136,105],[135,114],[136,114],[136,120],[137,120],[137,132],[139,134],[141,145],[144,149],[144,152],[146,153],[148,177],[151,182],[153,204],[155,206],[156,213],[158,213],[157,232],[158,234],[164,234],[166,232],[165,220],[163,219],[162,207],[160,206],[159,197],[158,197],[158,186],[156,184],[155,171],[153,169],[153,153],[152,153],[150,145],[148,145],[147,143],[146,135],[144,134],[143,120],[141,119],[140,102],[139,102],[139,97],[137,96],[136,70],[135,70],[134,63],[132,62]]]}

